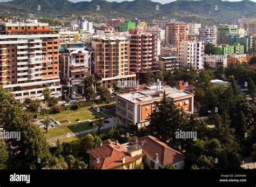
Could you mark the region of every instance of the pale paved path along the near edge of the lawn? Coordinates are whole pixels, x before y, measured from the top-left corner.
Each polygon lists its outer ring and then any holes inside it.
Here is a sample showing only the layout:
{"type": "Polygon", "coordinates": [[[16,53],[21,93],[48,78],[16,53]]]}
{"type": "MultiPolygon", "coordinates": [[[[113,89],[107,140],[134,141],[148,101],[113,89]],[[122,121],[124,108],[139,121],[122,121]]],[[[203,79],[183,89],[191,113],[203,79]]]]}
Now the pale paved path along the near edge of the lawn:
{"type": "MultiPolygon", "coordinates": [[[[114,127],[117,125],[117,119],[116,117],[112,117],[110,119],[107,119],[107,121],[110,121],[110,123],[108,124],[104,124],[104,126],[101,128],[103,129],[109,129],[111,127],[114,127]]],[[[89,129],[89,130],[84,130],[84,131],[79,131],[77,133],[68,133],[62,136],[57,136],[57,137],[52,137],[52,138],[48,138],[48,141],[57,141],[58,139],[64,139],[64,138],[69,138],[69,137],[73,137],[73,136],[78,136],[78,135],[83,135],[83,134],[88,134],[88,133],[92,133],[93,131],[95,131],[95,129],[89,129]]]]}

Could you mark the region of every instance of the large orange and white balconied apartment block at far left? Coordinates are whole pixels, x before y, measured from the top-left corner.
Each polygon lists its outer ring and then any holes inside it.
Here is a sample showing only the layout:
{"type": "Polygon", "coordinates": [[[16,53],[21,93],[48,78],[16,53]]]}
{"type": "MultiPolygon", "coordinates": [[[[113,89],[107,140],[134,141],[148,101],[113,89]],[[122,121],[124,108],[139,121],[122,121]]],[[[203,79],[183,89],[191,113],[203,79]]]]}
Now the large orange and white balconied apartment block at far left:
{"type": "Polygon", "coordinates": [[[62,92],[59,34],[41,34],[41,30],[35,33],[0,35],[0,86],[14,93],[21,102],[26,98],[43,99],[46,87],[55,96],[62,92]]]}

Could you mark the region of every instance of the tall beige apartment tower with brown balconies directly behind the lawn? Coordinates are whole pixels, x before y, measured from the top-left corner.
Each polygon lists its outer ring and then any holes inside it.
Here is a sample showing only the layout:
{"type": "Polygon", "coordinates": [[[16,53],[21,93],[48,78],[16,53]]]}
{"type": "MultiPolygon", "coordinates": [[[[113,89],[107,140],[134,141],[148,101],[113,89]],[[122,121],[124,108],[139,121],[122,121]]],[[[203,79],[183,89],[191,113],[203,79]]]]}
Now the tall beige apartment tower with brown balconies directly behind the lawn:
{"type": "Polygon", "coordinates": [[[92,36],[95,50],[95,74],[102,78],[102,85],[113,87],[114,81],[136,80],[130,73],[130,42],[125,37],[92,36]]]}

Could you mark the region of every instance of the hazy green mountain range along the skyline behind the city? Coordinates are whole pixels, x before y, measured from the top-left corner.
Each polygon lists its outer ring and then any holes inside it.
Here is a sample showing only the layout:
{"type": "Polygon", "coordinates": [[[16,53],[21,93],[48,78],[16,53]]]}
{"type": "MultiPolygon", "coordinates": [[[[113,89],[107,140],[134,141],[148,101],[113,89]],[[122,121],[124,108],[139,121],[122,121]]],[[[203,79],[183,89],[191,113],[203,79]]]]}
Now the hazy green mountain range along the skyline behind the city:
{"type": "Polygon", "coordinates": [[[72,15],[91,15],[99,18],[170,19],[208,24],[230,23],[236,18],[254,17],[256,3],[251,1],[227,2],[221,0],[176,1],[167,4],[150,0],[132,2],[91,2],[72,3],[68,0],[14,0],[0,3],[0,15],[62,18],[72,15]],[[97,9],[98,8],[98,9],[97,9]],[[10,12],[7,14],[6,12],[10,12]]]}

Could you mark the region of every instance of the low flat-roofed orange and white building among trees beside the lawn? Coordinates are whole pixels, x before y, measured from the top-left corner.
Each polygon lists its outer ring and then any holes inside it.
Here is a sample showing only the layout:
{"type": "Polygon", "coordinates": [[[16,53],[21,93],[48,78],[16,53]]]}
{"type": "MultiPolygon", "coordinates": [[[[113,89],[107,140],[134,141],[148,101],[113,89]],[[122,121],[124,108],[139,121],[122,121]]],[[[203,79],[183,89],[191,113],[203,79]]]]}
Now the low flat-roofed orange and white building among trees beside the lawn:
{"type": "Polygon", "coordinates": [[[167,98],[173,99],[177,108],[185,113],[194,111],[194,94],[161,84],[150,85],[143,91],[117,95],[117,116],[122,124],[137,124],[138,128],[150,123],[151,114],[156,110],[156,102],[167,98]]]}

